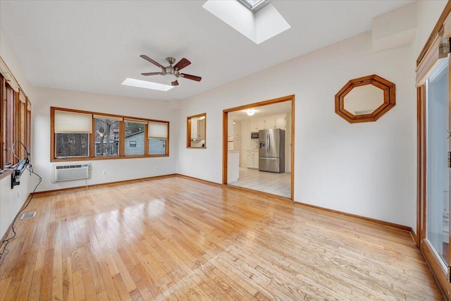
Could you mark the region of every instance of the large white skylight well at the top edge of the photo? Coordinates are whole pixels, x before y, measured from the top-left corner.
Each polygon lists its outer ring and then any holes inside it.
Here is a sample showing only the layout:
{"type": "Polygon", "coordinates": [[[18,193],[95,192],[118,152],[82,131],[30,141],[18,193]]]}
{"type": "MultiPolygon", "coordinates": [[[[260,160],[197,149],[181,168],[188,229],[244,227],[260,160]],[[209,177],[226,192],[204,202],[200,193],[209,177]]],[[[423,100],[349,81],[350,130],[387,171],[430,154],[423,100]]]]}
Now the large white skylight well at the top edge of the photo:
{"type": "Polygon", "coordinates": [[[208,0],[202,7],[255,44],[291,27],[268,0],[208,0]]]}

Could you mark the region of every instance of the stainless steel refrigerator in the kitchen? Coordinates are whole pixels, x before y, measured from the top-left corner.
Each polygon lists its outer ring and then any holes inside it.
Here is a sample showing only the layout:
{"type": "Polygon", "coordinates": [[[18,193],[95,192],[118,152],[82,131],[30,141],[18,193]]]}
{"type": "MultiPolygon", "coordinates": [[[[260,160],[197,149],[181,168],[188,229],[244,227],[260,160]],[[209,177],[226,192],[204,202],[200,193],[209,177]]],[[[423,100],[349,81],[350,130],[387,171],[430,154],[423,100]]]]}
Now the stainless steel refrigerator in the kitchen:
{"type": "Polygon", "coordinates": [[[285,130],[259,130],[259,171],[285,173],[285,130]]]}

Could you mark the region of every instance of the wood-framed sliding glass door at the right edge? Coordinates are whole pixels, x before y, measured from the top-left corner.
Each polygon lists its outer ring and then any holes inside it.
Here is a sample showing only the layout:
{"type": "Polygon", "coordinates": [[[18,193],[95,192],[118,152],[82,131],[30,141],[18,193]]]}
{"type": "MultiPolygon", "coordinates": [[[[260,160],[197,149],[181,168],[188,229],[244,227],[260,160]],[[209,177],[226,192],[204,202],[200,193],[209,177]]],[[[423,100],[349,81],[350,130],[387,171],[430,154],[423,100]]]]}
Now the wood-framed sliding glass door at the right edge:
{"type": "Polygon", "coordinates": [[[417,244],[450,297],[450,60],[438,61],[419,87],[419,217],[417,244]]]}

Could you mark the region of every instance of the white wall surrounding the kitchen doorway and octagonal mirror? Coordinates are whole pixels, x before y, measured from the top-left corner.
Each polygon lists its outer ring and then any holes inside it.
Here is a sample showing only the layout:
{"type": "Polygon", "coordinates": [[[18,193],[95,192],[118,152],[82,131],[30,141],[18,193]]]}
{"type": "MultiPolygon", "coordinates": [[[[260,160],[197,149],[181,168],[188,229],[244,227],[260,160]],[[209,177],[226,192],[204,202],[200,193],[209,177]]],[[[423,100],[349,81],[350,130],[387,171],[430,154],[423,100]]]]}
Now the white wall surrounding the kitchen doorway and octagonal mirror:
{"type": "MultiPolygon", "coordinates": [[[[442,9],[427,11],[433,24],[442,9]]],[[[221,183],[222,110],[295,94],[295,201],[415,229],[413,47],[371,47],[366,32],[185,100],[180,118],[206,111],[215,122],[207,123],[207,149],[179,147],[178,173],[221,183]],[[372,74],[395,83],[396,106],[376,122],[347,123],[335,114],[335,94],[348,80],[372,74]]]]}

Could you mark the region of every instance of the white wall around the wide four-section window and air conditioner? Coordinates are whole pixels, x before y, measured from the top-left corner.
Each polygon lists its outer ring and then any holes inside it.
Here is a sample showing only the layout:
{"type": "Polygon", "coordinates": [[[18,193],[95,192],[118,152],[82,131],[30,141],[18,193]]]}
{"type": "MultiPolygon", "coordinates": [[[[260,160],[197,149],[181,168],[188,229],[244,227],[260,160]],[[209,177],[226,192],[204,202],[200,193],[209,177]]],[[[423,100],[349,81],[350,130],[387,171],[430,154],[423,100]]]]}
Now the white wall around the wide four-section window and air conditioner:
{"type": "Polygon", "coordinates": [[[180,126],[177,118],[178,110],[173,109],[171,102],[37,87],[35,88],[34,100],[32,134],[39,139],[33,145],[33,159],[35,171],[42,176],[43,180],[38,191],[85,185],[85,180],[51,183],[52,164],[64,164],[64,162],[50,162],[51,106],[170,122],[168,157],[85,160],[92,164],[91,178],[88,180],[89,185],[167,175],[175,173],[177,170],[178,128],[180,126]],[[106,171],[106,176],[102,174],[102,171],[106,171]]]}

